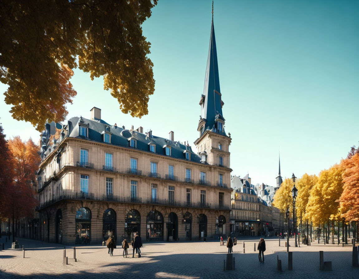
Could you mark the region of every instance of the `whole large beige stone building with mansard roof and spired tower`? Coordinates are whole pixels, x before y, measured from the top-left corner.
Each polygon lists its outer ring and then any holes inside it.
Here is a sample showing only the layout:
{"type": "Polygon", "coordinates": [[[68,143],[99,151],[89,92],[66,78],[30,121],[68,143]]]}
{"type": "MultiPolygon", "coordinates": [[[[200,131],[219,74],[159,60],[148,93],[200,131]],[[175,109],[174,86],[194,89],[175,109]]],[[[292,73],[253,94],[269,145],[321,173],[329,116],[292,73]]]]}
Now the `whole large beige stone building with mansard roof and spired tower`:
{"type": "Polygon", "coordinates": [[[109,235],[130,240],[137,231],[144,241],[228,234],[231,138],[221,98],[212,20],[198,154],[172,131],[165,139],[117,127],[95,107],[90,119],[47,124],[38,171],[41,238],[74,245],[109,235]]]}

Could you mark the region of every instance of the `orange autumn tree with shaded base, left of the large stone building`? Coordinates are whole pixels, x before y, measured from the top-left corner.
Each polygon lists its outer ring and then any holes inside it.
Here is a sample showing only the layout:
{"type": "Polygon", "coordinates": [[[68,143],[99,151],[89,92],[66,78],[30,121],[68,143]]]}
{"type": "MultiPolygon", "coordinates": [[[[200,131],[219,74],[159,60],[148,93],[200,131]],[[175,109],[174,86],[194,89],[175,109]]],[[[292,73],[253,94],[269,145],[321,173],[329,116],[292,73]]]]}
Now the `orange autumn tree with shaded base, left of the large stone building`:
{"type": "Polygon", "coordinates": [[[37,205],[36,192],[33,190],[36,170],[40,163],[39,147],[30,138],[23,142],[19,136],[8,141],[14,170],[13,183],[6,189],[7,213],[12,218],[13,241],[15,241],[15,219],[31,216],[37,205]]]}

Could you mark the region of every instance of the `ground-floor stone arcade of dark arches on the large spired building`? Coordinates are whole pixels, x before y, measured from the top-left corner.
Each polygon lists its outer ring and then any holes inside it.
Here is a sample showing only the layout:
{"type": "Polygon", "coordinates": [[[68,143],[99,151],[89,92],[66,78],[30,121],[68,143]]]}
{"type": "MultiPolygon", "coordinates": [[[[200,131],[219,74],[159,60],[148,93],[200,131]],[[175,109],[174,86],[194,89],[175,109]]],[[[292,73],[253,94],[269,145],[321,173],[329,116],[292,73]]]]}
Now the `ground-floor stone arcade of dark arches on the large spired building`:
{"type": "Polygon", "coordinates": [[[139,232],[143,241],[200,240],[229,235],[228,210],[94,200],[62,200],[40,212],[41,239],[67,245],[117,243],[139,232]]]}

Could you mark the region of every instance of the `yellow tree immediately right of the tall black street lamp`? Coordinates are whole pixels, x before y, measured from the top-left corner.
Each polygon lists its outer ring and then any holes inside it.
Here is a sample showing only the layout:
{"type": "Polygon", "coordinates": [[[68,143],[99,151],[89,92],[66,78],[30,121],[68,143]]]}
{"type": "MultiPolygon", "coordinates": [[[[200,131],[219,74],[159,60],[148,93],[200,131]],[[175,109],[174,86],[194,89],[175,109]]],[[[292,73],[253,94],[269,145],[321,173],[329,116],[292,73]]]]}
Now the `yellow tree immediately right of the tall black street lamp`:
{"type": "Polygon", "coordinates": [[[295,186],[298,189],[298,196],[295,201],[295,208],[297,209],[296,216],[299,218],[301,226],[302,221],[309,221],[309,218],[306,214],[306,206],[308,204],[310,191],[317,183],[317,181],[318,177],[316,175],[308,175],[305,173],[295,183],[295,186]]]}

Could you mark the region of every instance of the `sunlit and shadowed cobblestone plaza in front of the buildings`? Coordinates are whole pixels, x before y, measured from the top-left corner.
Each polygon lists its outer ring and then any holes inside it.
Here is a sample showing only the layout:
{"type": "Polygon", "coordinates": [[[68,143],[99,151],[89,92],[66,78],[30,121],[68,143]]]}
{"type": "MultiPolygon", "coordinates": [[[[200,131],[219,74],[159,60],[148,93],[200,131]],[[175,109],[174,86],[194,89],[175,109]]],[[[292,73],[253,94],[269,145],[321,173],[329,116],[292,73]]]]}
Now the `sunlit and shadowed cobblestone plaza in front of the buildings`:
{"type": "MultiPolygon", "coordinates": [[[[1,242],[4,241],[2,237],[1,242]]],[[[19,244],[25,247],[25,258],[22,251],[9,250],[9,241],[5,250],[0,251],[1,278],[359,278],[359,268],[351,266],[351,245],[313,242],[311,246],[293,247],[294,238],[290,239],[289,247],[293,251],[291,271],[285,242],[281,240],[279,247],[276,238],[266,239],[264,264],[258,261],[254,251],[258,239],[239,239],[233,247],[235,270],[230,271],[223,271],[227,247],[220,246],[219,241],[145,242],[141,258],[136,255],[132,258],[131,246],[128,258],[122,257],[121,248],[115,249],[111,257],[106,247],[79,246],[77,262],[73,260],[73,247],[68,246],[66,266],[62,263],[64,246],[25,239],[19,239],[19,244]],[[325,261],[332,261],[332,271],[320,271],[319,251],[324,251],[325,261]],[[277,271],[277,255],[282,260],[283,271],[277,271]]]]}

